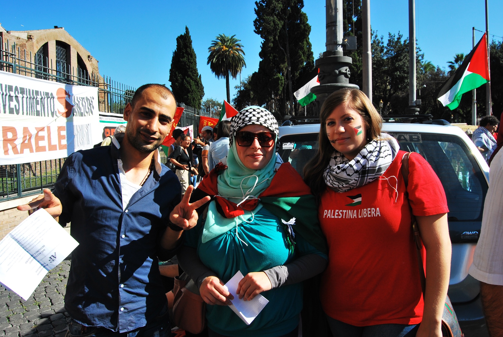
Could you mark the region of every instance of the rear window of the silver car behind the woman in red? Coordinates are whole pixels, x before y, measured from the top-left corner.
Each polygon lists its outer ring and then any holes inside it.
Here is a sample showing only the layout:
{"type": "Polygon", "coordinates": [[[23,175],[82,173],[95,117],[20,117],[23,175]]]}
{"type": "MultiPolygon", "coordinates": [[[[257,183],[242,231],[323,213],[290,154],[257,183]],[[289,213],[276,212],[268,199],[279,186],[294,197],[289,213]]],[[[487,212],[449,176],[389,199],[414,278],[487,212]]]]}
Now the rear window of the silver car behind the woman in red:
{"type": "MultiPolygon", "coordinates": [[[[449,221],[481,221],[487,182],[459,137],[437,133],[392,133],[400,150],[422,155],[444,186],[449,221]]],[[[318,149],[317,133],[284,136],[278,151],[284,162],[303,176],[305,164],[318,149]]]]}

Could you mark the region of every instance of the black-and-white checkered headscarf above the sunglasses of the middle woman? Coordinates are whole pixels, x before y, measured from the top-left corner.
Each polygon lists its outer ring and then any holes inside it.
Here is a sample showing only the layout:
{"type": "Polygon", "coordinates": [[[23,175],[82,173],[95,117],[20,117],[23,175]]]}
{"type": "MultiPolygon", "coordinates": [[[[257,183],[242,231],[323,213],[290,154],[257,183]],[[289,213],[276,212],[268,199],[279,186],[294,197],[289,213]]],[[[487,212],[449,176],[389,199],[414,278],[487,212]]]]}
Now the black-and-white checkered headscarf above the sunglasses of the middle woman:
{"type": "Polygon", "coordinates": [[[231,146],[234,132],[239,131],[244,126],[250,124],[264,125],[268,129],[273,131],[276,134],[276,137],[278,137],[278,121],[276,120],[276,118],[274,118],[273,114],[263,107],[252,105],[242,109],[237,113],[237,115],[232,117],[230,121],[229,136],[229,144],[231,146]]]}

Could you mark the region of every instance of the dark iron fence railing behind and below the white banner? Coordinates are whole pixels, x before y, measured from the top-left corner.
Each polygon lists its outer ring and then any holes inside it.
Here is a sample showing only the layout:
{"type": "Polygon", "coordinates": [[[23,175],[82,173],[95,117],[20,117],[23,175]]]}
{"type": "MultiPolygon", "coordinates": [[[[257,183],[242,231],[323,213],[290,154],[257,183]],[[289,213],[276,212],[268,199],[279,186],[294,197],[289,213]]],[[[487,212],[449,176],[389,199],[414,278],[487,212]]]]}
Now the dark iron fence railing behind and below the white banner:
{"type": "MultiPolygon", "coordinates": [[[[40,54],[23,51],[3,41],[0,37],[0,70],[28,77],[55,81],[70,85],[92,86],[98,88],[100,112],[117,114],[122,117],[127,103],[133,97],[136,88],[128,86],[109,77],[101,77],[97,73],[75,68],[66,63],[53,64],[52,59],[40,54]]],[[[184,113],[178,126],[194,125],[194,132],[199,127],[200,116],[209,116],[203,110],[179,103],[184,107],[184,113]]],[[[0,201],[15,199],[27,195],[41,193],[44,188],[52,189],[63,166],[65,158],[45,160],[40,162],[0,165],[0,201]]],[[[161,161],[166,157],[161,151],[161,161]]]]}

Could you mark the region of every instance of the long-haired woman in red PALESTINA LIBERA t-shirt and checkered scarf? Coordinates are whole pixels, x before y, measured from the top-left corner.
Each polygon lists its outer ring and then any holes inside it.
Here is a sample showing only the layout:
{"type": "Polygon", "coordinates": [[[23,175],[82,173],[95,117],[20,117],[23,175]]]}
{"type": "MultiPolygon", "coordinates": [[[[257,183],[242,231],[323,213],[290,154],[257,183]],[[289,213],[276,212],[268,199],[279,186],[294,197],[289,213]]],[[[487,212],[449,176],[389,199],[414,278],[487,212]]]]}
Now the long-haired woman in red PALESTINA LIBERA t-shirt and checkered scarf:
{"type": "Polygon", "coordinates": [[[333,335],[442,336],[451,242],[437,175],[412,153],[405,186],[405,152],[381,133],[381,116],[360,90],[328,96],[320,123],[319,149],[304,179],[318,196],[328,243],[320,298],[333,335]],[[424,301],[410,209],[427,253],[424,301]]]}

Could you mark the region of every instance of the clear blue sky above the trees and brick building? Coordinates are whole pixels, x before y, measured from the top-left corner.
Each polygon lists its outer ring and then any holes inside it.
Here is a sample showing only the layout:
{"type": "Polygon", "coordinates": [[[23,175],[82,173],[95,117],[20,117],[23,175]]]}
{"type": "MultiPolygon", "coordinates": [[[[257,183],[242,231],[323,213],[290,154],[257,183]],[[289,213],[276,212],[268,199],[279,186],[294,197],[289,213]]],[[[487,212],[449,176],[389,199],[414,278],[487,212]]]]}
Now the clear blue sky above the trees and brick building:
{"type": "MultiPolygon", "coordinates": [[[[408,36],[407,0],[371,0],[371,26],[387,38],[388,32],[408,36]]],[[[485,30],[484,0],[416,0],[416,38],[425,59],[447,67],[456,53],[472,47],[472,27],[485,30]]],[[[101,75],[138,87],[144,83],[169,84],[176,37],[189,27],[205,98],[225,99],[225,80],[217,80],[206,64],[208,46],[218,34],[236,35],[246,53],[244,78],[257,71],[261,38],[254,33],[255,2],[251,0],[166,1],[53,1],[51,9],[40,1],[2,5],[0,23],[7,30],[64,27],[99,60],[101,75]]],[[[311,25],[315,58],[325,50],[325,1],[304,0],[311,25]]],[[[489,0],[489,33],[503,36],[503,1],[489,0]]],[[[478,40],[482,33],[476,32],[478,40]]],[[[490,39],[501,40],[499,37],[490,39]]],[[[233,87],[239,77],[231,80],[233,87]]]]}

